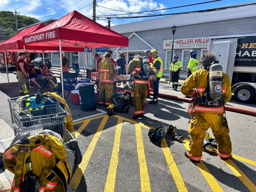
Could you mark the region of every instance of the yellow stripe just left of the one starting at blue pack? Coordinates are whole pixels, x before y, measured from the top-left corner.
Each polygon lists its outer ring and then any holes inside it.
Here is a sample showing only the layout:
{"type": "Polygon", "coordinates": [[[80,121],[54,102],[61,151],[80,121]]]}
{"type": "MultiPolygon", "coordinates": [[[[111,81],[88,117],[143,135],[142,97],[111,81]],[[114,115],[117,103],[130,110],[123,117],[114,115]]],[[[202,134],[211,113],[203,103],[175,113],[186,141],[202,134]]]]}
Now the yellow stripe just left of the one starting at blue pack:
{"type": "Polygon", "coordinates": [[[150,181],[148,176],[148,169],[147,169],[144,145],[142,140],[141,126],[139,123],[135,124],[135,133],[136,133],[137,151],[138,151],[138,159],[139,159],[141,191],[150,192],[151,191],[150,181]]]}

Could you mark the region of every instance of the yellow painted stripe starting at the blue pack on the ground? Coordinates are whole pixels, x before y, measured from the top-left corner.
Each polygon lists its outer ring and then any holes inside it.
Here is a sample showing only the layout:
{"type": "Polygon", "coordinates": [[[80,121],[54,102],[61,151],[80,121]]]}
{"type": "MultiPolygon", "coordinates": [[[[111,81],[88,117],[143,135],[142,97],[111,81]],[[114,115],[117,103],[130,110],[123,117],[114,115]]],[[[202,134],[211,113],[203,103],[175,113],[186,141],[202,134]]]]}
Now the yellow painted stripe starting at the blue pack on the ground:
{"type": "Polygon", "coordinates": [[[168,164],[168,167],[170,169],[170,172],[171,172],[173,179],[175,181],[175,184],[178,188],[178,191],[179,192],[187,192],[187,188],[186,188],[185,183],[181,177],[180,171],[172,157],[172,153],[171,153],[171,151],[166,143],[166,140],[164,138],[161,140],[161,147],[162,147],[166,162],[168,164]]]}

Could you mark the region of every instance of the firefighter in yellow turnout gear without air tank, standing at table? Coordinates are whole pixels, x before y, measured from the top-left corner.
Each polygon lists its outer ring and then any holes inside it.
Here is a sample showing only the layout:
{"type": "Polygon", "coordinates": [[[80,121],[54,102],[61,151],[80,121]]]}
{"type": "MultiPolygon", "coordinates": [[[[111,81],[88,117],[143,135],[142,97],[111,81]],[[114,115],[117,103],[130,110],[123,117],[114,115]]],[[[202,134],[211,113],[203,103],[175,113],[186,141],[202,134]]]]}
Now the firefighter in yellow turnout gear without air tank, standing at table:
{"type": "Polygon", "coordinates": [[[105,53],[104,59],[99,62],[99,105],[108,106],[114,89],[115,66],[111,61],[111,54],[105,53]]]}

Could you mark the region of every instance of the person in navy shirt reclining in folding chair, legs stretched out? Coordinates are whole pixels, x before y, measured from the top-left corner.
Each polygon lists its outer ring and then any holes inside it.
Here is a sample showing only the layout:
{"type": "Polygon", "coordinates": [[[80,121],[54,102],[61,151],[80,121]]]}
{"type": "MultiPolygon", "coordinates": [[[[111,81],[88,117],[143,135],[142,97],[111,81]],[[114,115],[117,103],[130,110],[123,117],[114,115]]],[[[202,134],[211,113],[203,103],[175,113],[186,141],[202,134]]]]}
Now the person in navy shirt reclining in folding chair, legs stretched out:
{"type": "Polygon", "coordinates": [[[38,75],[38,74],[36,74],[36,71],[34,68],[30,68],[29,73],[30,73],[29,78],[35,85],[37,85],[38,89],[44,88],[46,85],[45,82],[48,82],[48,84],[51,83],[53,85],[54,92],[55,91],[59,91],[59,93],[61,92],[61,87],[59,88],[57,79],[55,77],[38,75]],[[42,85],[43,85],[43,87],[42,87],[42,85]]]}

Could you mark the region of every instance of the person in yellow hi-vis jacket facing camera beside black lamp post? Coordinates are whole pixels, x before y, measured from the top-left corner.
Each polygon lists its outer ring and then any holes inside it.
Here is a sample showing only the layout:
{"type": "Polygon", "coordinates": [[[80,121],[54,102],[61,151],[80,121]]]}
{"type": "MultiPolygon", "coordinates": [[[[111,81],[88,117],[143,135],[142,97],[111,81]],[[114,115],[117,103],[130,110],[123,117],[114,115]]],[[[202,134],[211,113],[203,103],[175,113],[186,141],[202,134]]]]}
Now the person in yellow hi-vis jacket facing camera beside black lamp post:
{"type": "Polygon", "coordinates": [[[172,61],[170,66],[170,76],[172,76],[172,90],[177,91],[179,77],[181,75],[181,61],[178,60],[179,56],[176,54],[173,56],[174,61],[172,61]]]}

